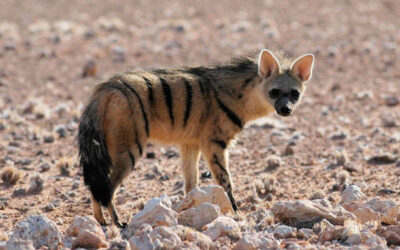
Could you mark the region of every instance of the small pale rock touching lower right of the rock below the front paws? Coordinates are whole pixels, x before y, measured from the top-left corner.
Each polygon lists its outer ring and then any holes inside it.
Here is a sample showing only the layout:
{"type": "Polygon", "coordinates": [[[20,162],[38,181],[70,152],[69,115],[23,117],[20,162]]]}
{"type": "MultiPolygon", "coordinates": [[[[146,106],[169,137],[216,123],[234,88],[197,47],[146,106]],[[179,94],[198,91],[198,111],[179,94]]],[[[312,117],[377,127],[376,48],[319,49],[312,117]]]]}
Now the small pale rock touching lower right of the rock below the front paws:
{"type": "Polygon", "coordinates": [[[240,228],[236,221],[229,217],[218,217],[210,224],[203,227],[203,233],[216,240],[221,236],[240,237],[240,228]]]}

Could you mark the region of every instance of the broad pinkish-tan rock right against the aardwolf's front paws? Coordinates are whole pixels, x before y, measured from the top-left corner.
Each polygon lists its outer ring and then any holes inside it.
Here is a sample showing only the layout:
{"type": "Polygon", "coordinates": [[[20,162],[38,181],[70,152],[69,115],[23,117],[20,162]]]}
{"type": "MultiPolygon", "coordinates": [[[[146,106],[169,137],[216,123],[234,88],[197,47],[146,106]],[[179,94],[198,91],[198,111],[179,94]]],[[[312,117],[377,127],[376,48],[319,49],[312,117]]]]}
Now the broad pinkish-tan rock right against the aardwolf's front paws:
{"type": "Polygon", "coordinates": [[[218,205],[224,214],[233,213],[228,195],[221,186],[217,185],[195,187],[186,195],[185,199],[177,203],[175,210],[181,212],[188,208],[197,207],[204,202],[218,205]]]}

